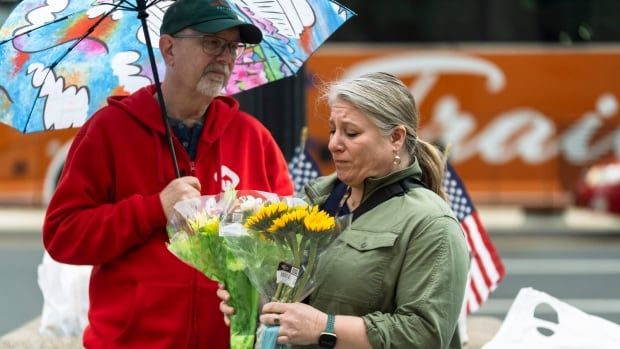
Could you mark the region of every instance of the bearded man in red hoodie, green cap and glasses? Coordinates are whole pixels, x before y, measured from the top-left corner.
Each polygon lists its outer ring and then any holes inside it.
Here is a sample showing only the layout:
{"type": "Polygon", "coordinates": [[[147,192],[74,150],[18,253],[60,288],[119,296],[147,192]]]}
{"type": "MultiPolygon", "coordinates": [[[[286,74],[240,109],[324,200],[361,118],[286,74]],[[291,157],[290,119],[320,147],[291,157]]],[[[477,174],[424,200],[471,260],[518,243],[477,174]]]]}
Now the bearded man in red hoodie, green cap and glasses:
{"type": "Polygon", "coordinates": [[[181,178],[154,86],[110,98],[75,137],[43,239],[54,259],[94,265],[85,347],[229,347],[217,284],[166,249],[165,229],[176,202],[228,184],[292,194],[270,133],[235,100],[216,97],[244,43],[261,39],[209,0],[178,0],[164,15],[162,90],[181,178]]]}

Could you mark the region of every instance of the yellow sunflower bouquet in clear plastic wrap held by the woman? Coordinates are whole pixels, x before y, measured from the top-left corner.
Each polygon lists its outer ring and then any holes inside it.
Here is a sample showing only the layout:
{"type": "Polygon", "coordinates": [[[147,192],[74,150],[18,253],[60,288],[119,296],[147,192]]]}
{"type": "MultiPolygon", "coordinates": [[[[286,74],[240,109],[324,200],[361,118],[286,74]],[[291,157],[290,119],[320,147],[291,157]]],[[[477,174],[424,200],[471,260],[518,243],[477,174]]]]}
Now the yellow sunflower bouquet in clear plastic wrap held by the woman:
{"type": "MultiPolygon", "coordinates": [[[[237,197],[240,203],[256,203],[244,193],[237,197]]],[[[303,300],[321,282],[327,265],[321,257],[348,227],[351,215],[336,218],[291,197],[268,200],[251,210],[248,206],[232,207],[220,223],[228,249],[242,261],[263,301],[303,300]]],[[[278,347],[277,331],[277,326],[261,325],[256,348],[278,347]]]]}

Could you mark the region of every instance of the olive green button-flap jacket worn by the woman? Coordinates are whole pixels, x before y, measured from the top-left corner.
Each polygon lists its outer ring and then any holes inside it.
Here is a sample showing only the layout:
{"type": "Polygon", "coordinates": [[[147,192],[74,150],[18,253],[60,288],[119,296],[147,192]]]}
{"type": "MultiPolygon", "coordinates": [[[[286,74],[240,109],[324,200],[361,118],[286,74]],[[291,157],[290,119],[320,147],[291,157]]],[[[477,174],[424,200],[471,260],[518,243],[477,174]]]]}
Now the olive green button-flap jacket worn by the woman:
{"type": "MultiPolygon", "coordinates": [[[[420,179],[417,163],[369,178],[362,202],[377,188],[420,179]]],[[[323,203],[335,175],[305,189],[323,203]]],[[[361,316],[373,348],[460,348],[457,320],[469,266],[465,236],[448,204],[413,188],[361,215],[321,257],[324,278],[310,305],[336,315],[361,316]]]]}

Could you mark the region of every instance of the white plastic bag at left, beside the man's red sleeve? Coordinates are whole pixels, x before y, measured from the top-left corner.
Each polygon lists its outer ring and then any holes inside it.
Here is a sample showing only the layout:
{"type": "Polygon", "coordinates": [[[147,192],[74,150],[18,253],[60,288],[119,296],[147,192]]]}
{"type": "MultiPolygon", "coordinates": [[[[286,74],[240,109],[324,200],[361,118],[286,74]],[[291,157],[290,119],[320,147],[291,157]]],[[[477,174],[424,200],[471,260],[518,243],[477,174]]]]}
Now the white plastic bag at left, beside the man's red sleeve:
{"type": "Polygon", "coordinates": [[[91,266],[56,262],[45,252],[38,268],[43,294],[39,332],[44,336],[81,336],[88,324],[88,283],[91,266]]]}

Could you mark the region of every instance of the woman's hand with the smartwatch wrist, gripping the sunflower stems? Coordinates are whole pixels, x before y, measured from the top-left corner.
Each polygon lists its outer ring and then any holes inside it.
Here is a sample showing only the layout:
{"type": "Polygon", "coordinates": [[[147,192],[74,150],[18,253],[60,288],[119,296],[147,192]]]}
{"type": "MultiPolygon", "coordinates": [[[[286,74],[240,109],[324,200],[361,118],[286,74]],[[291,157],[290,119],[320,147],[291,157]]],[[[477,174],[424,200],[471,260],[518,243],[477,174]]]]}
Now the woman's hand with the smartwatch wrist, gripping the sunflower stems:
{"type": "Polygon", "coordinates": [[[280,325],[278,344],[316,344],[327,325],[327,314],[303,303],[272,302],[263,306],[260,322],[280,325]]]}

